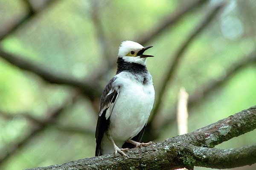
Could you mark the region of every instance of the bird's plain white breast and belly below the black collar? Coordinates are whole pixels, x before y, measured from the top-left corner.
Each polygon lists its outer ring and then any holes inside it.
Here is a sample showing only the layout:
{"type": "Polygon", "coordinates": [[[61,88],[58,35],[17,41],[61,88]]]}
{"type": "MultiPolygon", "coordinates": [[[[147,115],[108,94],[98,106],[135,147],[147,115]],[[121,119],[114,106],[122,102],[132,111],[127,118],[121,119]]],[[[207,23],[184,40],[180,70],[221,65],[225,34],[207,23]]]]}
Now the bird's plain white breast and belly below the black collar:
{"type": "Polygon", "coordinates": [[[136,136],[148,122],[154,103],[154,87],[129,82],[120,89],[110,116],[108,134],[125,142],[136,136]]]}

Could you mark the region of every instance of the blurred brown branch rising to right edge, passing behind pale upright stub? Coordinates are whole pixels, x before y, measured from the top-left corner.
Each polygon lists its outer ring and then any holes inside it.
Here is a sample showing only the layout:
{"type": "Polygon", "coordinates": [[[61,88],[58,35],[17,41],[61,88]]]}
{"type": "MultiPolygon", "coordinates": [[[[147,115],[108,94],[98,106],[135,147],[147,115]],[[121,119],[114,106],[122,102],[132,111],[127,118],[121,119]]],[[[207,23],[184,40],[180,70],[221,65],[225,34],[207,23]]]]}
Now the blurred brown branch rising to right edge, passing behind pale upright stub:
{"type": "MultiPolygon", "coordinates": [[[[226,82],[228,82],[231,78],[233,78],[236,74],[239,73],[242,69],[250,66],[251,64],[256,64],[256,50],[253,51],[251,54],[249,54],[246,57],[241,57],[241,60],[236,62],[235,64],[232,64],[230,68],[226,70],[226,74],[224,76],[221,76],[217,79],[209,81],[206,85],[203,85],[198,88],[190,97],[188,102],[188,107],[192,108],[195,107],[198,104],[201,104],[201,102],[209,96],[212,92],[216,91],[218,88],[221,88],[225,85],[226,82]]],[[[175,117],[175,110],[171,111],[171,114],[173,115],[170,118],[165,118],[164,122],[160,125],[158,125],[157,129],[153,128],[152,131],[156,133],[155,136],[158,136],[158,132],[167,127],[168,125],[172,125],[176,121],[175,117]],[[157,131],[157,132],[156,132],[157,131]]],[[[154,122],[152,122],[154,124],[154,122]]],[[[152,133],[151,131],[151,133],[152,133]]]]}

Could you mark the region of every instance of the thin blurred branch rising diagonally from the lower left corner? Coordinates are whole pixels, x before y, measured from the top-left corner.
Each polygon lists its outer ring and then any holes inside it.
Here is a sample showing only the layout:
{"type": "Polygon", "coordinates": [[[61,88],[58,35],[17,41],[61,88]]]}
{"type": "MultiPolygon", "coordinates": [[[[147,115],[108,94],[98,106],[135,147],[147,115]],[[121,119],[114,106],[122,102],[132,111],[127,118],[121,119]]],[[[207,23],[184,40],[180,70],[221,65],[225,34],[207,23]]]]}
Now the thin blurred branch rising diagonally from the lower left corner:
{"type": "Polygon", "coordinates": [[[62,105],[55,108],[54,111],[49,111],[47,113],[47,118],[44,121],[40,122],[40,124],[37,124],[38,126],[34,126],[23,139],[16,142],[15,144],[12,144],[12,146],[6,151],[5,155],[0,155],[0,165],[4,161],[9,159],[9,157],[11,157],[13,154],[15,154],[17,150],[22,149],[34,136],[45,130],[46,127],[51,124],[55,119],[57,119],[62,111],[64,111],[69,106],[70,102],[74,102],[76,97],[77,94],[72,94],[68,99],[63,102],[62,105]]]}

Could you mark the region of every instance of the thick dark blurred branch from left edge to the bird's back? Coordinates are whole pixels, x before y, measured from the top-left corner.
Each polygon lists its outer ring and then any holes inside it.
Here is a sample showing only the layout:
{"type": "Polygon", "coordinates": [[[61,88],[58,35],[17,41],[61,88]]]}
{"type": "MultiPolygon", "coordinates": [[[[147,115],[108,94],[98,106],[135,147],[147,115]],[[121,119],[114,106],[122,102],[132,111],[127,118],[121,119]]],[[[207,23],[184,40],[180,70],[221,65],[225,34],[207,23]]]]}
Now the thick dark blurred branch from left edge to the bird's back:
{"type": "Polygon", "coordinates": [[[24,59],[24,57],[17,57],[14,54],[3,51],[0,48],[0,57],[5,59],[12,65],[17,66],[20,69],[30,71],[45,81],[60,85],[70,85],[78,88],[83,94],[88,96],[91,100],[97,99],[101,95],[101,91],[96,87],[96,82],[81,82],[80,80],[73,79],[72,77],[64,76],[60,73],[56,74],[49,69],[41,67],[39,64],[35,64],[32,61],[24,59]]]}

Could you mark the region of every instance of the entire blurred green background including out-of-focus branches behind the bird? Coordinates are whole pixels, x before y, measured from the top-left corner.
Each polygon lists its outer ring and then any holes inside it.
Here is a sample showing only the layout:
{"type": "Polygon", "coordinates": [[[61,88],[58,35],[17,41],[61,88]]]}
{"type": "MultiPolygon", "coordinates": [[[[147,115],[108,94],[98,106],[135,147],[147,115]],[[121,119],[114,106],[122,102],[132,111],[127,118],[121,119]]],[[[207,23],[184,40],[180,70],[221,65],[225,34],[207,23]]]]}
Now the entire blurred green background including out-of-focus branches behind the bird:
{"type": "Polygon", "coordinates": [[[1,170],[94,156],[99,98],[124,40],[154,46],[145,142],[178,135],[181,87],[189,132],[256,105],[255,0],[0,0],[0,16],[1,170]]]}

